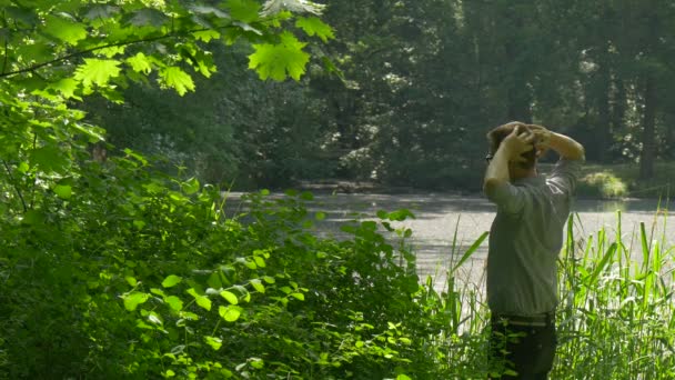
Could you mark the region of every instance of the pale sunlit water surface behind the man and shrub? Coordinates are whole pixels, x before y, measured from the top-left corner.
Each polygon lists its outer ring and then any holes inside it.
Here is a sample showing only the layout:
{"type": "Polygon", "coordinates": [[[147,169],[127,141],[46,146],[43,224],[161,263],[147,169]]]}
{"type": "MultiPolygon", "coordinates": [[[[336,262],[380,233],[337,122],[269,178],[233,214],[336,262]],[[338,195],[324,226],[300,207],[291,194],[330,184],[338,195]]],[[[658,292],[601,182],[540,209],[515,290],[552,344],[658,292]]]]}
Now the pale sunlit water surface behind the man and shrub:
{"type": "MultiPolygon", "coordinates": [[[[240,196],[230,194],[234,200],[240,196]]],[[[613,239],[621,211],[622,240],[631,247],[637,260],[642,254],[638,240],[641,223],[645,224],[648,241],[659,240],[666,247],[675,247],[675,220],[666,211],[674,207],[675,201],[668,204],[658,200],[576,200],[573,207],[576,213],[574,233],[578,243],[584,246],[584,241],[597,236],[601,229],[613,239]]],[[[481,234],[490,230],[495,216],[495,207],[484,198],[443,193],[314,193],[308,209],[325,212],[326,218],[316,224],[316,232],[338,239],[344,238],[340,226],[357,217],[375,218],[379,210],[412,211],[415,218],[400,222],[397,227],[413,231],[410,244],[416,252],[419,274],[422,279],[431,276],[439,290],[445,284],[447,270],[481,234]]],[[[455,277],[465,283],[482,287],[486,254],[487,240],[459,268],[455,277]]]]}

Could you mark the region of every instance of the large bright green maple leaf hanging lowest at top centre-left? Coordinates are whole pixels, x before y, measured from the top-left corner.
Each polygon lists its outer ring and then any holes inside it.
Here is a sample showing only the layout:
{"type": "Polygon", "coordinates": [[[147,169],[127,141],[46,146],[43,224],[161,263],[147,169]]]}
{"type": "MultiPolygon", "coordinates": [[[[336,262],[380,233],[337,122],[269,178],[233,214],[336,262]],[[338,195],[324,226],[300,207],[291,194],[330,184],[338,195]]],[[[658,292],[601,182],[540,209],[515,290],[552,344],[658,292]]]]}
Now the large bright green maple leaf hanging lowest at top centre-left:
{"type": "Polygon", "coordinates": [[[310,54],[302,51],[306,43],[300,42],[289,31],[284,31],[280,38],[278,44],[253,44],[255,52],[249,56],[249,69],[255,70],[262,80],[272,78],[283,81],[286,77],[300,80],[310,61],[310,54]]]}

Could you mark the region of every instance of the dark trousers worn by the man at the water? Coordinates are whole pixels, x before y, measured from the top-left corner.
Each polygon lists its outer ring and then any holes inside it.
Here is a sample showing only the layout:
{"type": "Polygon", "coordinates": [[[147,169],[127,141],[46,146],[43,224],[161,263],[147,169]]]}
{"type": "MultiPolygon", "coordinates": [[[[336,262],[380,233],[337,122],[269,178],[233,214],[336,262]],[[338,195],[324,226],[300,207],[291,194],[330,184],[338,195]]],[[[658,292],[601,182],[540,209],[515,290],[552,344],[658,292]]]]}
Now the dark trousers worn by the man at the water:
{"type": "Polygon", "coordinates": [[[553,313],[493,317],[491,328],[491,379],[548,379],[557,346],[553,313]]]}

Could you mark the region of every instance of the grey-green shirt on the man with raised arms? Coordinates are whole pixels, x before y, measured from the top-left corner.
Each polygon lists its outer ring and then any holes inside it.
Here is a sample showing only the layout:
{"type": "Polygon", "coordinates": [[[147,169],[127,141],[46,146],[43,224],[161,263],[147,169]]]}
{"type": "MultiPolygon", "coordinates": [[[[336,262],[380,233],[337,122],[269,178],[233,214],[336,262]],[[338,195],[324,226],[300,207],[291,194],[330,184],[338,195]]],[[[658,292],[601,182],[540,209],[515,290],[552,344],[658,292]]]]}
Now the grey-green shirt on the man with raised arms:
{"type": "Polygon", "coordinates": [[[487,256],[487,301],[493,312],[531,316],[556,300],[556,260],[580,161],[561,160],[548,178],[531,177],[488,192],[497,204],[487,256]]]}

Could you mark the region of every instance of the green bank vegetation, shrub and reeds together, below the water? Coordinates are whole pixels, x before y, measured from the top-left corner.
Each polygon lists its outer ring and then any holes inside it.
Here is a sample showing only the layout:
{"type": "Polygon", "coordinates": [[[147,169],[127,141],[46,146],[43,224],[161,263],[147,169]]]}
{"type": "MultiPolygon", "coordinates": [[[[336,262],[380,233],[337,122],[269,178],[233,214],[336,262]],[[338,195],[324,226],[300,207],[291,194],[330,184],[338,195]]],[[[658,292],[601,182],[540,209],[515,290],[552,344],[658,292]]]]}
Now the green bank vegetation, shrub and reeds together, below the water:
{"type": "MultiPolygon", "coordinates": [[[[397,227],[407,210],[320,238],[309,192],[251,193],[225,214],[219,189],[131,151],[68,187],[1,220],[0,378],[487,374],[483,286],[454,276],[485,234],[439,287],[416,274],[414,231],[397,227]]],[[[673,248],[652,232],[665,221],[568,229],[556,379],[674,376],[673,248]]]]}

